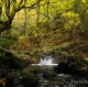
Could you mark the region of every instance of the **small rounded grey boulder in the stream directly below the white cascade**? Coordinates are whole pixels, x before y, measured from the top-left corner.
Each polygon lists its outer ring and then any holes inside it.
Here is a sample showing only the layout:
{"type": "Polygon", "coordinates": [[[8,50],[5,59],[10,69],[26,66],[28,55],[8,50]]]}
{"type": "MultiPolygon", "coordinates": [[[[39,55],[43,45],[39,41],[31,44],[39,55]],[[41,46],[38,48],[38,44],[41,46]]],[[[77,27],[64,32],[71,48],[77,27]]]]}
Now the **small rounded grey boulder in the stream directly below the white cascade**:
{"type": "Polygon", "coordinates": [[[45,78],[55,77],[55,76],[56,76],[56,73],[51,68],[45,68],[43,70],[43,77],[45,78]]]}

